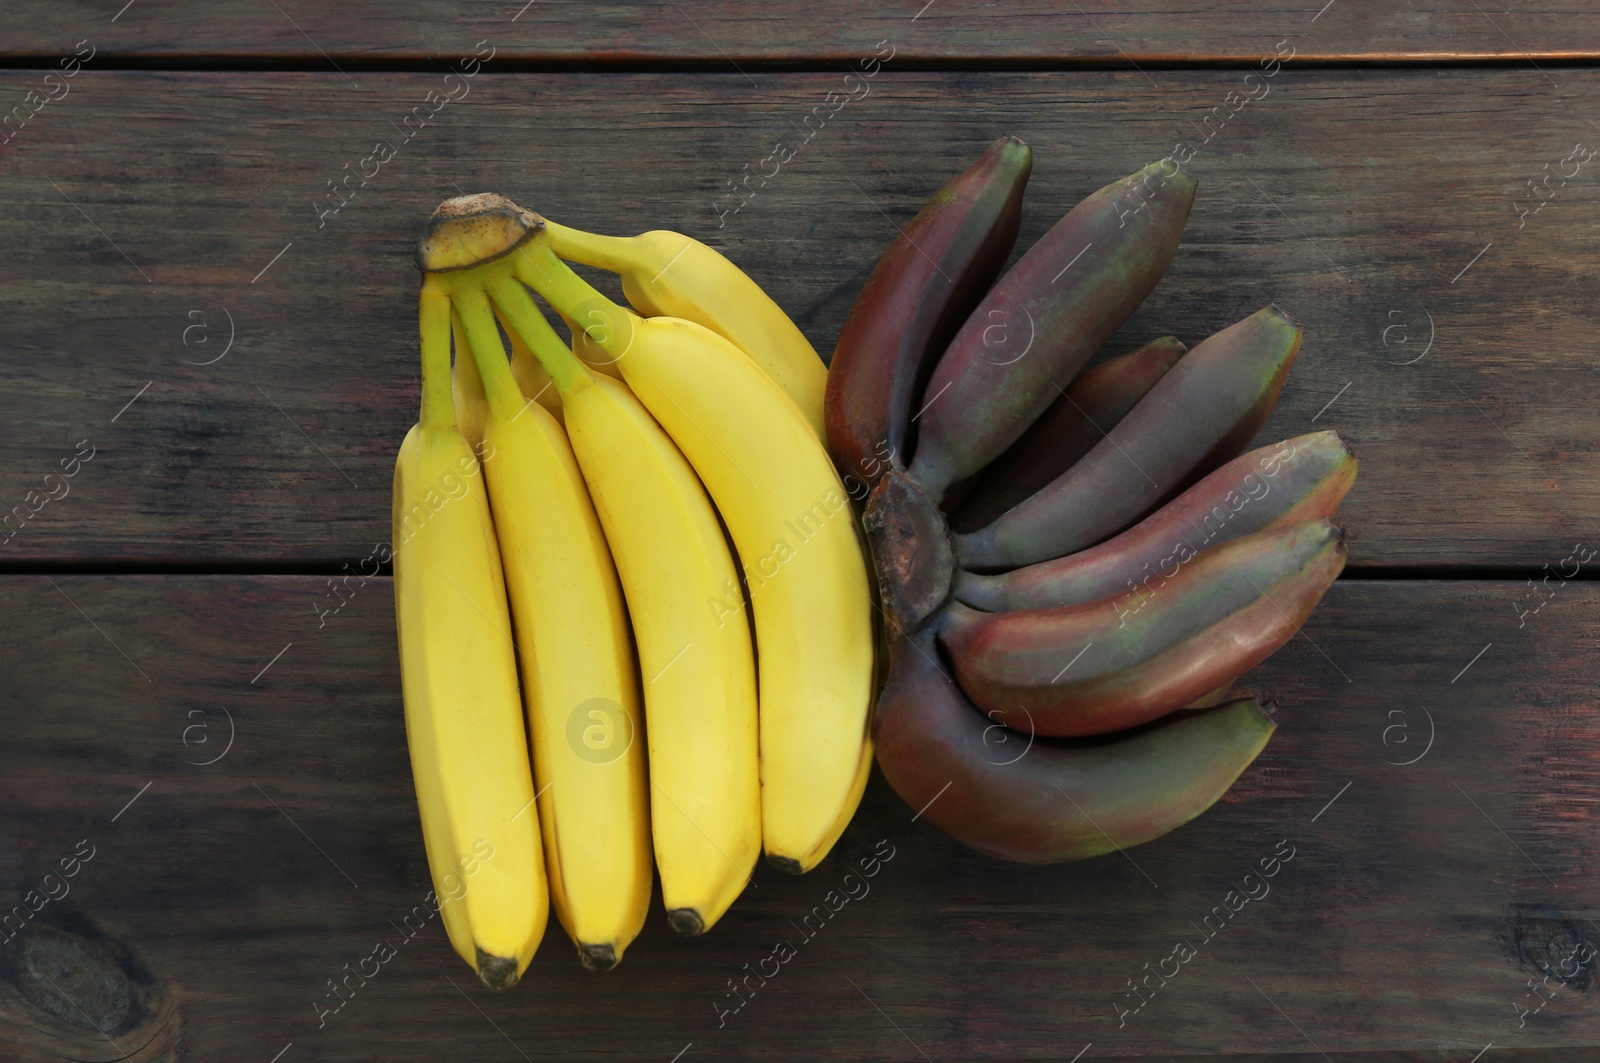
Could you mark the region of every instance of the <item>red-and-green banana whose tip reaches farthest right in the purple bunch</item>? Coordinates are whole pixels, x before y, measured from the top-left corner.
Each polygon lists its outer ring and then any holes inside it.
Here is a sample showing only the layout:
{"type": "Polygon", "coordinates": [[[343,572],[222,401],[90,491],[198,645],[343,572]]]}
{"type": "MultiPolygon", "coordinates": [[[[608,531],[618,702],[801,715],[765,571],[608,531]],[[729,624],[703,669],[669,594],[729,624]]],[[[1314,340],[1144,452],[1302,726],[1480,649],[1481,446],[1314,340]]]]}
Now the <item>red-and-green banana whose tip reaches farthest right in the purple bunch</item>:
{"type": "Polygon", "coordinates": [[[1200,551],[1285,523],[1331,517],[1357,461],[1336,432],[1307,432],[1234,458],[1122,535],[1054,560],[979,575],[955,573],[955,597],[974,608],[1077,605],[1163,580],[1200,551]]]}

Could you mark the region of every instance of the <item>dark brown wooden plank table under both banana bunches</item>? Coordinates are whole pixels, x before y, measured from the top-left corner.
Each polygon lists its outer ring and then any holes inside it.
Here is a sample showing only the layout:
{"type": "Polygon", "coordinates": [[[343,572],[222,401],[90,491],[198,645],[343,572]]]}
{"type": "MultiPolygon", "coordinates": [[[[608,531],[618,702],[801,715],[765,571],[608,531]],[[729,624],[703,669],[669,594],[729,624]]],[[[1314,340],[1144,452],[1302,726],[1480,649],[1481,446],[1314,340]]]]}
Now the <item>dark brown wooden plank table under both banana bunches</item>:
{"type": "Polygon", "coordinates": [[[520,2],[0,14],[29,115],[0,147],[0,509],[27,514],[0,544],[0,898],[38,908],[0,946],[0,1058],[1600,1058],[1600,961],[1573,961],[1600,948],[1600,592],[1566,578],[1600,546],[1600,165],[1552,176],[1600,144],[1592,5],[520,2]],[[405,123],[430,93],[458,98],[405,123]],[[406,924],[390,586],[344,580],[416,415],[422,219],[499,191],[677,227],[830,351],[1000,133],[1035,149],[1019,247],[1197,150],[1182,250],[1114,351],[1269,301],[1306,325],[1262,437],[1336,427],[1363,464],[1346,578],[1243,684],[1278,698],[1270,748],[1194,824],[1054,868],[874,778],[826,864],[758,871],[706,940],[658,911],[590,975],[552,921],[520,988],[480,989],[406,924]],[[1270,893],[1205,922],[1274,852],[1270,893]],[[798,957],[725,1013],[779,940],[798,957]],[[1131,1010],[1178,941],[1198,956],[1131,1010]]]}

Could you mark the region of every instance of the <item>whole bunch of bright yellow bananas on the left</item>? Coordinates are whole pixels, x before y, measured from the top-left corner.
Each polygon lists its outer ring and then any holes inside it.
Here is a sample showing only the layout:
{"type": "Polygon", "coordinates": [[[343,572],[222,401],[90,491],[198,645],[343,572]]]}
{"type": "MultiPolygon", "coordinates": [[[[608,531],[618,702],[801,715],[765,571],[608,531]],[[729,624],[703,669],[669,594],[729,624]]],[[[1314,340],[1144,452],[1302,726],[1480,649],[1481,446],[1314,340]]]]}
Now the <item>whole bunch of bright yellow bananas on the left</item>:
{"type": "Polygon", "coordinates": [[[418,267],[395,612],[445,929],[506,988],[549,898],[603,970],[643,925],[651,852],[669,924],[698,935],[762,848],[808,871],[861,800],[872,588],[821,442],[826,370],[680,234],[470,195],[435,211],[418,267]],[[563,258],[619,274],[638,314],[563,258]]]}

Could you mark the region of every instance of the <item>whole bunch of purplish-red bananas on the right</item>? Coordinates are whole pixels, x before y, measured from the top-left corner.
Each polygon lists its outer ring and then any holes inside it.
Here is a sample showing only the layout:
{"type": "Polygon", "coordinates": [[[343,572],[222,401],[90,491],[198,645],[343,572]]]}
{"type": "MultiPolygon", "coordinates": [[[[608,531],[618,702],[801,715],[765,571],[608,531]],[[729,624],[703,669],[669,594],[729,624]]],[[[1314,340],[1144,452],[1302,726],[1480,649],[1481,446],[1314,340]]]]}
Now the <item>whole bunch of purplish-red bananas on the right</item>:
{"type": "Polygon", "coordinates": [[[1234,682],[1344,567],[1334,432],[1245,453],[1301,328],[1085,368],[1178,253],[1173,160],[1094,192],[1000,275],[1032,152],[995,141],[885,251],[838,338],[827,443],[877,570],[878,765],[952,837],[1027,863],[1205,812],[1275,724],[1234,682]]]}

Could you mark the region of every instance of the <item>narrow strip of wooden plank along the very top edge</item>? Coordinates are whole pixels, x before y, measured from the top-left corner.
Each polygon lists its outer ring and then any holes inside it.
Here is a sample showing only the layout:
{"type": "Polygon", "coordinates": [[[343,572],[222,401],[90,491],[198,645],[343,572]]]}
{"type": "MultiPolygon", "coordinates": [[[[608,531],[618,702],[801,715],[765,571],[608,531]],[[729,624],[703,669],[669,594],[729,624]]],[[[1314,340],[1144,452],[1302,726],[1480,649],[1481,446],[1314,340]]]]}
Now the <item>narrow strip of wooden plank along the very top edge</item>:
{"type": "Polygon", "coordinates": [[[3,56],[48,61],[88,38],[110,59],[272,59],[333,62],[450,59],[478,40],[512,62],[851,62],[878,40],[907,61],[1254,61],[1280,40],[1317,59],[1552,61],[1600,51],[1600,21],[1581,0],[1493,10],[1472,3],[1384,5],[1269,0],[1024,0],[986,5],[906,0],[861,8],[760,3],[525,5],[371,0],[338,6],[224,0],[200,10],[152,3],[98,6],[27,0],[6,10],[3,56]],[[1322,10],[1318,10],[1322,8],[1322,10]]]}

